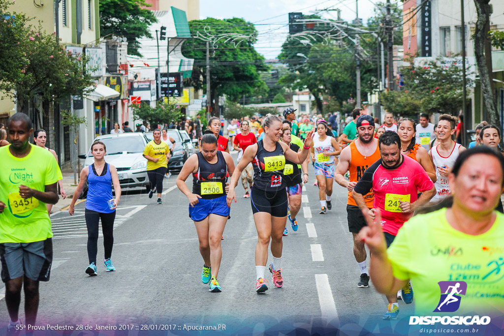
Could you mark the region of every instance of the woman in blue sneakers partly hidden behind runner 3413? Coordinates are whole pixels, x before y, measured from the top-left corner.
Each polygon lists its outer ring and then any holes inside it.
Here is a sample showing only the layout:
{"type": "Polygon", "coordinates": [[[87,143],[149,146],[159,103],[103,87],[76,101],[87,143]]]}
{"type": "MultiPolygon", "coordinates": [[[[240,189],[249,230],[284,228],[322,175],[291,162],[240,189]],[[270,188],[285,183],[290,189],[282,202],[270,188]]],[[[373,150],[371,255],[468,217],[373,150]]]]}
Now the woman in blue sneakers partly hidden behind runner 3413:
{"type": "MultiPolygon", "coordinates": [[[[294,152],[299,152],[300,147],[292,143],[291,130],[288,126],[282,127],[282,142],[287,144],[287,146],[289,146],[289,148],[294,152]]],[[[308,173],[305,173],[308,171],[308,163],[303,161],[301,166],[302,170],[299,168],[298,164],[285,160],[284,178],[287,189],[287,198],[289,200],[289,214],[287,215],[287,218],[289,219],[292,230],[294,231],[297,231],[296,215],[299,213],[299,209],[301,209],[301,189],[303,183],[308,182],[308,173]],[[301,172],[303,172],[303,175],[301,175],[301,172]]],[[[286,236],[287,233],[288,230],[286,226],[283,235],[286,236]]]]}

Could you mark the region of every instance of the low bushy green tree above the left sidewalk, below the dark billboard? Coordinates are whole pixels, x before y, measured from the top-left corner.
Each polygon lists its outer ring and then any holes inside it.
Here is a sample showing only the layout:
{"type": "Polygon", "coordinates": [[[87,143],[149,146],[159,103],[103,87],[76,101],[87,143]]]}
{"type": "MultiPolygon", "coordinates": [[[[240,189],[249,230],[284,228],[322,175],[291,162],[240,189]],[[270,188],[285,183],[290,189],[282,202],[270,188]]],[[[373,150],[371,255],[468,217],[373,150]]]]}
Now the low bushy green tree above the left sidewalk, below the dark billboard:
{"type": "Polygon", "coordinates": [[[133,117],[147,121],[151,126],[175,123],[181,116],[180,108],[172,101],[157,102],[155,107],[151,107],[148,102],[133,105],[133,117]]]}

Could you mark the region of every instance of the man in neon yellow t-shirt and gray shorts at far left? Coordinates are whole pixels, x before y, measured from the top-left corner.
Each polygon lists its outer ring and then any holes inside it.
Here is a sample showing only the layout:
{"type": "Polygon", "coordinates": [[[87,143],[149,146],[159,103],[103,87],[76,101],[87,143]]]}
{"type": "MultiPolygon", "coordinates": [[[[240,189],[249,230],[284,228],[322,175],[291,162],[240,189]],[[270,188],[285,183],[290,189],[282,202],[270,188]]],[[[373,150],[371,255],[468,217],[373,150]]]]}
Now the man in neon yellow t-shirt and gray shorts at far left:
{"type": "Polygon", "coordinates": [[[0,148],[0,263],[11,321],[7,334],[20,330],[19,305],[25,292],[25,325],[35,325],[39,282],[49,281],[51,221],[46,203],[56,204],[61,171],[49,151],[30,144],[32,122],[15,113],[7,121],[11,145],[0,148]]]}

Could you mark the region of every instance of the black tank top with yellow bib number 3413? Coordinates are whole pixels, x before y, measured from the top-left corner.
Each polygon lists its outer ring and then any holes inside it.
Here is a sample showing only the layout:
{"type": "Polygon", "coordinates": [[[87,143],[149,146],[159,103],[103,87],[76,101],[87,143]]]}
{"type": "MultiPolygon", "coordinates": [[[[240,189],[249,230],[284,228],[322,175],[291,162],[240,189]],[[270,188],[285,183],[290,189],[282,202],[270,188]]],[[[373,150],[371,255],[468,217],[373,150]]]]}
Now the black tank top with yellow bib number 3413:
{"type": "Polygon", "coordinates": [[[254,167],[254,187],[264,191],[278,191],[285,188],[283,170],[285,156],[282,146],[276,143],[273,152],[267,151],[263,140],[257,143],[257,154],[252,160],[254,167]]]}

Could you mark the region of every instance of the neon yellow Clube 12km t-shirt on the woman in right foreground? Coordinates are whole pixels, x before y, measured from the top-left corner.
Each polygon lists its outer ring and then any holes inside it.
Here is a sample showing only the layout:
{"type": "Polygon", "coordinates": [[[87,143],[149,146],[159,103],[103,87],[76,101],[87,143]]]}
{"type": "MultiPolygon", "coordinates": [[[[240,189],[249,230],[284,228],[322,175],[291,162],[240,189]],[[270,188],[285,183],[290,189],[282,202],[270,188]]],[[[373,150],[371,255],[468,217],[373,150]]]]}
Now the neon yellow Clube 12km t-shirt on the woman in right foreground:
{"type": "Polygon", "coordinates": [[[394,276],[411,279],[416,314],[504,312],[504,215],[497,213],[490,230],[478,236],[451,227],[446,209],[418,215],[399,230],[387,253],[394,276]],[[439,281],[467,283],[456,312],[433,312],[441,294],[439,281]]]}

